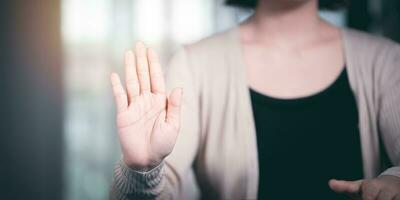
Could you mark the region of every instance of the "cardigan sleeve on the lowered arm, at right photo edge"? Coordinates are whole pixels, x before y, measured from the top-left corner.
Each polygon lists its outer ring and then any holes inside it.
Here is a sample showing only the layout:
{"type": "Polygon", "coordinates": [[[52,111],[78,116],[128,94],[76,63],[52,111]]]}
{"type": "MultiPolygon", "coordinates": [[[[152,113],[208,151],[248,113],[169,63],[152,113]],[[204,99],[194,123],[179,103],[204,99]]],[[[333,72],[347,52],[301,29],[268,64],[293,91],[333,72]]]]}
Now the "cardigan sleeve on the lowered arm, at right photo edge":
{"type": "Polygon", "coordinates": [[[381,175],[400,177],[400,45],[392,43],[384,55],[378,84],[378,125],[393,167],[381,175]]]}

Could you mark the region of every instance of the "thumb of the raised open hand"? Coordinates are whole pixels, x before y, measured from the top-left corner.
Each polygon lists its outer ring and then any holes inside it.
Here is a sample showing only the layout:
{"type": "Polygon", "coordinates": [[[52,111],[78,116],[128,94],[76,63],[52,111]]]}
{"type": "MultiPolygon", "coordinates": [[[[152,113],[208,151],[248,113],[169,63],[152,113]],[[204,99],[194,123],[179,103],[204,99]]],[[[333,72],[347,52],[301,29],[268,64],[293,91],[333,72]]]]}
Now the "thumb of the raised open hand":
{"type": "Polygon", "coordinates": [[[166,121],[177,130],[180,128],[181,104],[182,88],[174,88],[168,98],[166,121]]]}

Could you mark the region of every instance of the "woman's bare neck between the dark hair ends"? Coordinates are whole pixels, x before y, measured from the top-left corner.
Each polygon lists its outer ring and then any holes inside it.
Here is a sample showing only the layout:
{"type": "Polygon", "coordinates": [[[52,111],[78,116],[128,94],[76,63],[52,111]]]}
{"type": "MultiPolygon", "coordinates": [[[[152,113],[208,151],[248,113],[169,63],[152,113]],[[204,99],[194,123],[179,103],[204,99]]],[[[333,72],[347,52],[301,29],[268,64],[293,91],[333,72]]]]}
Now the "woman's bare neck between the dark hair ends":
{"type": "Polygon", "coordinates": [[[286,4],[276,0],[260,0],[255,14],[245,26],[248,25],[252,30],[250,35],[261,40],[301,43],[315,36],[322,24],[317,7],[315,0],[286,4]]]}

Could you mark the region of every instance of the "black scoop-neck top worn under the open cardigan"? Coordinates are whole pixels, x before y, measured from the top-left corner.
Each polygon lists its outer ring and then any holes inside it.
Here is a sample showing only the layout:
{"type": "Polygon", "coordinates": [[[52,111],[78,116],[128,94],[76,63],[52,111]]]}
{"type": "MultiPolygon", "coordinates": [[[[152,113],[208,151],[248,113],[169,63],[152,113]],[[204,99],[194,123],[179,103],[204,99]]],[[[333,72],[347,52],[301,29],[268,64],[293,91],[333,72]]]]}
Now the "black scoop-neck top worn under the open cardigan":
{"type": "Polygon", "coordinates": [[[331,178],[363,177],[358,111],[346,69],[325,90],[277,99],[250,89],[260,165],[259,199],[346,199],[331,178]]]}

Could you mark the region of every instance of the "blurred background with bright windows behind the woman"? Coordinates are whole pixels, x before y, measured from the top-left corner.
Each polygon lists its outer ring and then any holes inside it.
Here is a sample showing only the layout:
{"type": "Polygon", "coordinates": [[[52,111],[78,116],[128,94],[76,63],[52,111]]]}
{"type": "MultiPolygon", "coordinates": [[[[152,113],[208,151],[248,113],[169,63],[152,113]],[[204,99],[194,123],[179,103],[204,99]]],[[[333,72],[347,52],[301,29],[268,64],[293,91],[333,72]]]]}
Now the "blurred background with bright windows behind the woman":
{"type": "MultiPolygon", "coordinates": [[[[120,158],[109,73],[144,41],[168,61],[179,45],[251,14],[223,0],[3,0],[0,199],[108,198],[120,158]]],[[[400,41],[400,1],[322,11],[342,27],[400,41]]]]}

